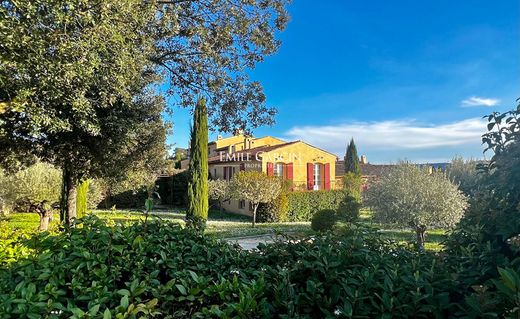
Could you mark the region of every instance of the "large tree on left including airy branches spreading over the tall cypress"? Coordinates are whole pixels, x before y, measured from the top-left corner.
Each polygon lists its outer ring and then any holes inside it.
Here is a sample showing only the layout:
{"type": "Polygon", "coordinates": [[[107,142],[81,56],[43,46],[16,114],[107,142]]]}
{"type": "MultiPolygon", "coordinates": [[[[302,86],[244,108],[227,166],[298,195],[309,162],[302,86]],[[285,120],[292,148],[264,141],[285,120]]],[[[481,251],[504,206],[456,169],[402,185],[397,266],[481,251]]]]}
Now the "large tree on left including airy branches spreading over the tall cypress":
{"type": "Polygon", "coordinates": [[[272,123],[275,110],[246,71],[278,49],[287,2],[0,2],[0,161],[37,156],[60,166],[70,222],[76,185],[100,171],[100,158],[117,164],[131,149],[145,153],[129,132],[135,117],[126,117],[157,74],[168,76],[168,93],[182,106],[206,97],[222,131],[272,123]],[[99,138],[108,148],[93,145],[99,138]],[[113,145],[125,155],[112,156],[113,145]]]}

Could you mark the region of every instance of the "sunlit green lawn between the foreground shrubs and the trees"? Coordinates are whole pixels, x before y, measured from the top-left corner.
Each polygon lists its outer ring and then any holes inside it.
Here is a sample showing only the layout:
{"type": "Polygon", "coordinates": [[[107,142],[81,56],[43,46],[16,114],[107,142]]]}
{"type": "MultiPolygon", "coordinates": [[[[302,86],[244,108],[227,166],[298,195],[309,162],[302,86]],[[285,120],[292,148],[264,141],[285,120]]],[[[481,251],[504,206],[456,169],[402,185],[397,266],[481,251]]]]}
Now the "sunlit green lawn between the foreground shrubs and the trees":
{"type": "MultiPolygon", "coordinates": [[[[113,222],[133,222],[143,220],[142,212],[136,210],[95,210],[96,216],[113,222]]],[[[153,212],[150,219],[165,219],[184,223],[184,212],[182,210],[160,210],[153,212]]],[[[57,218],[56,218],[57,219],[57,218]]],[[[13,228],[36,229],[39,225],[39,217],[34,213],[15,213],[7,217],[9,225],[13,228]]],[[[415,242],[415,233],[408,229],[393,224],[380,224],[373,221],[372,214],[368,210],[360,213],[360,222],[368,227],[378,228],[382,236],[403,243],[415,242]]],[[[54,220],[52,225],[58,225],[54,220]]],[[[311,234],[310,222],[296,223],[259,223],[255,228],[251,227],[251,218],[218,210],[210,210],[206,225],[206,232],[215,238],[237,238],[246,236],[257,236],[273,233],[289,233],[294,235],[311,234]]],[[[438,251],[442,249],[442,241],[446,238],[443,229],[431,229],[427,231],[425,248],[438,251]]]]}

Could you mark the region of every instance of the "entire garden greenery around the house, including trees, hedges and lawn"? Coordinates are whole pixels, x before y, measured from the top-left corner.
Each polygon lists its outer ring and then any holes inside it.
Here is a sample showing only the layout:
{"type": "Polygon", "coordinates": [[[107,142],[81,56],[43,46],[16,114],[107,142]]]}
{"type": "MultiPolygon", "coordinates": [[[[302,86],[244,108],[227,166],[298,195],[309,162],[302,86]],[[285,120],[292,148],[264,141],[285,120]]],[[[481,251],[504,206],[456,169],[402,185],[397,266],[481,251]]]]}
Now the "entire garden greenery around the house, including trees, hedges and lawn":
{"type": "Polygon", "coordinates": [[[287,5],[0,2],[0,319],[520,318],[520,105],[486,116],[486,161],[366,181],[352,140],[338,189],[210,178],[211,130],[274,122],[247,71],[287,5]]]}

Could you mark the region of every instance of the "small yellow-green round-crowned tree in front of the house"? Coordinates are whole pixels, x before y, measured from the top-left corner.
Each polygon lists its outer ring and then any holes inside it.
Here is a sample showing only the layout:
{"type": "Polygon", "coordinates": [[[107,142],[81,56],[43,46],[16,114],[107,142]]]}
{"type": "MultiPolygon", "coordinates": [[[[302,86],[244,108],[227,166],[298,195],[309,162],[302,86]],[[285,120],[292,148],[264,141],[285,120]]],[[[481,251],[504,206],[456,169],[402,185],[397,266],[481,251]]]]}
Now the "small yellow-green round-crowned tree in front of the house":
{"type": "Polygon", "coordinates": [[[233,176],[230,184],[233,198],[247,200],[253,206],[253,227],[260,203],[274,200],[282,190],[282,181],[258,171],[241,171],[233,176]]]}

